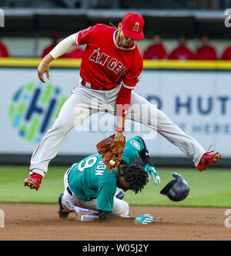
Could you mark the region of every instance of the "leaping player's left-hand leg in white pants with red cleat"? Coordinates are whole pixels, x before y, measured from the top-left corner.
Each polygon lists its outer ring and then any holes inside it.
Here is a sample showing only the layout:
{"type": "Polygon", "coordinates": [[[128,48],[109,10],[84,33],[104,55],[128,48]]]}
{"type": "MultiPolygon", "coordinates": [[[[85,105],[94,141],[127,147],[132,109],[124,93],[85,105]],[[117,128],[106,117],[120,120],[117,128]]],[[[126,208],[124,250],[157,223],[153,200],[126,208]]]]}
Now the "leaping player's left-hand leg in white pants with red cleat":
{"type": "Polygon", "coordinates": [[[74,125],[91,115],[92,112],[87,106],[79,106],[76,103],[81,103],[79,96],[72,94],[62,106],[58,119],[45,133],[41,143],[32,154],[29,169],[31,176],[24,180],[25,186],[35,190],[39,189],[42,177],[48,171],[49,162],[58,153],[66,134],[69,133],[69,130],[72,130],[74,125]]]}

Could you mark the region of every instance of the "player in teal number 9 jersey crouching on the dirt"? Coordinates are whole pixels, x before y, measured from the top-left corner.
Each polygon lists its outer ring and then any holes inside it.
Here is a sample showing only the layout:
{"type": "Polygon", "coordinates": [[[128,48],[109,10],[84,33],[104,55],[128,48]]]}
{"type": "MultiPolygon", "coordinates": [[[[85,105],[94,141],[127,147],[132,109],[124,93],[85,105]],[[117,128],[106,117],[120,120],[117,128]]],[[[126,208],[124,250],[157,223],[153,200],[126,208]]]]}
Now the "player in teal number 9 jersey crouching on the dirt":
{"type": "MultiPolygon", "coordinates": [[[[117,170],[109,173],[100,154],[85,157],[74,163],[65,173],[65,192],[59,196],[59,217],[66,218],[70,212],[80,214],[92,211],[99,221],[115,217],[129,217],[129,204],[116,197],[120,190],[138,193],[149,180],[150,173],[156,184],[160,178],[149,158],[146,144],[139,136],[128,140],[117,170]],[[145,167],[132,165],[140,157],[145,167]]],[[[153,218],[142,214],[136,223],[147,224],[153,218]]]]}

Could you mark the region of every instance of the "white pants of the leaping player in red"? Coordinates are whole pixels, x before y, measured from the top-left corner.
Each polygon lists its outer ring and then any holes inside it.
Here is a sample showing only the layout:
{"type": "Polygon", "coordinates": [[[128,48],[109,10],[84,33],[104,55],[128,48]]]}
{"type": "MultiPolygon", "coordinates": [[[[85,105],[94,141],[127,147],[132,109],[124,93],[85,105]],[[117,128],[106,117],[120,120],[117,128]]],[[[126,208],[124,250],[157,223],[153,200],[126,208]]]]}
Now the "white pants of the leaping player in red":
{"type": "MultiPolygon", "coordinates": [[[[50,160],[58,153],[62,140],[69,130],[93,113],[104,112],[107,109],[109,113],[115,115],[119,89],[120,87],[117,86],[105,91],[92,90],[81,86],[80,79],[78,86],[72,90],[72,95],[62,106],[54,125],[45,133],[39,147],[34,151],[30,170],[45,176],[50,160]]],[[[126,118],[149,126],[160,133],[169,142],[179,147],[195,166],[206,152],[196,140],[172,123],[165,113],[134,92],[132,92],[131,106],[126,118]],[[140,111],[140,109],[145,109],[145,111],[140,111]]]]}

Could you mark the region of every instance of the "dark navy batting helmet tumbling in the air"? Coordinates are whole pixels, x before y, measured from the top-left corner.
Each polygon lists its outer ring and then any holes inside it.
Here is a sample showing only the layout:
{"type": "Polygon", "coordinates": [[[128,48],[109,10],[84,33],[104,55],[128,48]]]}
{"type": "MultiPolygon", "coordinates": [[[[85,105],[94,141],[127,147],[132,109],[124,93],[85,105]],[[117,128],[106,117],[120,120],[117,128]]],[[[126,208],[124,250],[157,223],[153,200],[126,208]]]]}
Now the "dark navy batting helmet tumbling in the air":
{"type": "Polygon", "coordinates": [[[175,202],[186,199],[189,195],[189,184],[187,184],[186,180],[179,173],[172,173],[172,177],[176,178],[176,180],[171,180],[160,191],[160,194],[169,197],[170,200],[175,202]]]}

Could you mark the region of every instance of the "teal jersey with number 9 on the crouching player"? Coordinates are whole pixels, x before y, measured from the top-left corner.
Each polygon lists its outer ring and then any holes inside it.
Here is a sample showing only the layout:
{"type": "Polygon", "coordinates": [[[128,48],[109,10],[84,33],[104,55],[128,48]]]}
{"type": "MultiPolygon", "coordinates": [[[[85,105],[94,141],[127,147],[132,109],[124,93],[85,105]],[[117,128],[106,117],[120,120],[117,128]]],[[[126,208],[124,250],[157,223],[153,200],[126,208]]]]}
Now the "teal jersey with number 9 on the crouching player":
{"type": "MultiPolygon", "coordinates": [[[[139,137],[133,137],[126,142],[122,160],[129,165],[136,160],[142,149],[142,140],[139,137]]],[[[109,169],[102,161],[102,156],[94,154],[71,167],[69,187],[75,196],[82,200],[89,201],[97,198],[98,210],[112,211],[118,175],[119,169],[109,173],[109,169]]]]}

